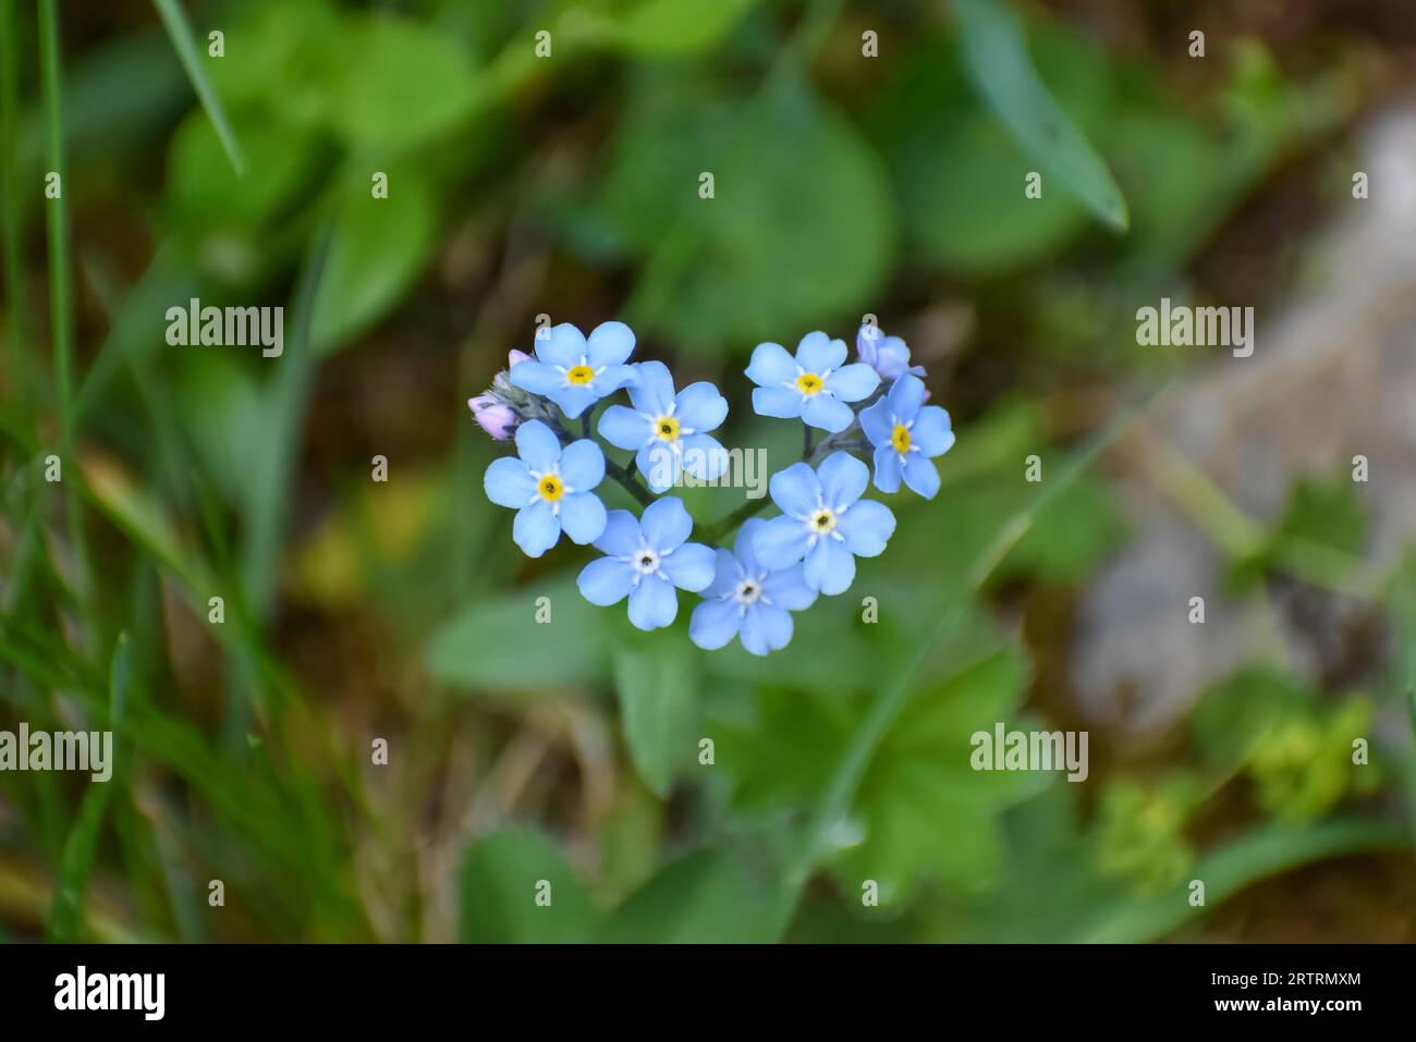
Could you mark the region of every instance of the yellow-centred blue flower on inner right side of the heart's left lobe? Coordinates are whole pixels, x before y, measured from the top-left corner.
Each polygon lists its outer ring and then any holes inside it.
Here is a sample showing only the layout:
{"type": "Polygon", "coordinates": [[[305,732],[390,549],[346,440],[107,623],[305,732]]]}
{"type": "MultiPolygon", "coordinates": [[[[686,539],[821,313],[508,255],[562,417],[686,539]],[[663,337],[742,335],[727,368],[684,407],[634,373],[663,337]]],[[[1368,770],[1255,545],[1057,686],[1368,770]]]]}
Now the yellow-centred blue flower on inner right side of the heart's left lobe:
{"type": "Polygon", "coordinates": [[[663,362],[633,368],[633,408],[607,408],[600,416],[600,437],[619,449],[633,449],[634,463],[656,493],[673,487],[684,470],[704,481],[721,477],[728,453],[705,432],[728,416],[728,399],[707,381],[674,394],[674,378],[663,362]]]}

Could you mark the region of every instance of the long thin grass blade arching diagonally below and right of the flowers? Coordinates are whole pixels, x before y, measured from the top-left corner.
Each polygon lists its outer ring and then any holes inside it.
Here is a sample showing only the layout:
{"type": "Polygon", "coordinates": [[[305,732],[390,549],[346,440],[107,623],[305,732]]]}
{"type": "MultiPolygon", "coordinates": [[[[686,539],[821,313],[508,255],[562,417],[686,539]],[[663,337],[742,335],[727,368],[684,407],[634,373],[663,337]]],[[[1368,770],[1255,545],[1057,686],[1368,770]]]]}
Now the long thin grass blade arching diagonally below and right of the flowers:
{"type": "MultiPolygon", "coordinates": [[[[1121,430],[1130,426],[1137,416],[1148,409],[1170,387],[1171,384],[1164,385],[1141,405],[1116,416],[1104,430],[1092,439],[1090,445],[1072,457],[1056,479],[1039,488],[1032,500],[1024,505],[1024,508],[1020,510],[1008,521],[1008,524],[1004,525],[1003,531],[998,532],[997,538],[984,549],[984,552],[974,562],[974,566],[970,569],[969,593],[971,596],[983,590],[988,578],[998,568],[998,565],[1003,563],[1004,558],[1008,556],[1008,552],[1024,535],[1027,535],[1038,513],[1059,493],[1072,486],[1076,479],[1086,471],[1092,462],[1096,460],[1102,450],[1106,449],[1106,446],[1109,446],[1117,435],[1121,433],[1121,430]]],[[[786,872],[783,874],[783,892],[776,909],[777,917],[775,923],[775,934],[777,937],[786,933],[787,926],[790,926],[792,917],[796,913],[797,902],[801,898],[801,891],[806,886],[807,879],[811,876],[811,872],[816,869],[821,852],[826,849],[827,835],[834,828],[835,823],[840,821],[850,810],[851,801],[855,798],[855,791],[861,784],[861,779],[865,776],[867,767],[869,767],[871,759],[875,756],[877,749],[879,749],[885,735],[889,733],[891,725],[909,701],[909,694],[915,687],[915,680],[920,671],[923,671],[925,665],[937,651],[944,639],[960,624],[964,607],[966,599],[960,596],[954,602],[954,607],[940,616],[935,629],[920,643],[915,657],[909,661],[905,670],[901,671],[891,682],[889,688],[886,688],[885,692],[875,699],[869,715],[851,738],[851,743],[843,752],[841,759],[837,760],[835,769],[831,772],[831,777],[821,794],[821,800],[807,824],[806,834],[803,835],[796,852],[787,864],[786,872]]]]}

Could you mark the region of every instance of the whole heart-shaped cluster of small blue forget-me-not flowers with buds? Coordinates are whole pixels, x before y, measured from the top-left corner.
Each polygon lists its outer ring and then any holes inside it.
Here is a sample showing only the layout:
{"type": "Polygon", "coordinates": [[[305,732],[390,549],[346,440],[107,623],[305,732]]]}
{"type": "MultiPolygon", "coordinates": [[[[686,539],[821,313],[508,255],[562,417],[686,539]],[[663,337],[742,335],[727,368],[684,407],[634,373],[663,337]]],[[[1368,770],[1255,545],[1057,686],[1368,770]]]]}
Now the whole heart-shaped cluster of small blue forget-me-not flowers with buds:
{"type": "Polygon", "coordinates": [[[753,409],[800,419],[826,437],[813,445],[809,436],[806,459],[772,476],[780,515],[745,520],[732,549],[690,542],[694,520],[683,501],[654,498],[684,473],[705,481],[722,474],[726,453],[709,432],[726,419],[728,401],[708,382],[675,391],[663,362],[630,362],[634,333],[619,321],[589,337],[571,324],[542,331],[534,355],[513,351],[493,387],[469,399],[481,428],[517,449],[487,467],[487,498],[517,511],[511,538],[528,556],[562,532],[603,554],[579,575],[590,603],[627,600],[630,622],[656,630],[678,616],[678,590],[698,593],[688,624],[695,644],[714,650],[736,637],[752,654],[769,654],[792,640],[792,612],[844,593],[855,558],[884,552],[895,515],[862,498],[867,487],[896,493],[903,483],[933,498],[939,471],[930,460],[954,443],[949,413],[926,405],[925,371],[909,364],[903,340],[869,323],[855,348],[858,361],[847,362],[845,343],[817,331],[794,354],[780,344],[753,350],[753,409]],[[590,432],[595,405],[619,391],[629,405],[607,406],[595,430],[634,453],[629,469],[607,462],[590,432]],[[869,454],[874,469],[855,453],[869,454]],[[607,473],[646,504],[639,518],[605,508],[596,488],[607,473]]]}

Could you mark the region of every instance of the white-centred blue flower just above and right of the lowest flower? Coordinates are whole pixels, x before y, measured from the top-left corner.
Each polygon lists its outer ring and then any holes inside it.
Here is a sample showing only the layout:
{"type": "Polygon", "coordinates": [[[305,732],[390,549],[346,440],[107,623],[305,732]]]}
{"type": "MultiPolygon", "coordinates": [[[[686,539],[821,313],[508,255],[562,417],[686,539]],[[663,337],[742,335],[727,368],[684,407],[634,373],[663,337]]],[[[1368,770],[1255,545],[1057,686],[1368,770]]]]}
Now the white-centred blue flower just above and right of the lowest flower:
{"type": "Polygon", "coordinates": [[[755,532],[758,561],[772,571],[803,561],[809,588],[844,593],[855,580],[855,558],[877,556],[895,532],[889,507],[861,498],[869,480],[869,467],[844,452],[816,470],[793,463],[773,474],[769,490],[782,517],[755,532]]]}

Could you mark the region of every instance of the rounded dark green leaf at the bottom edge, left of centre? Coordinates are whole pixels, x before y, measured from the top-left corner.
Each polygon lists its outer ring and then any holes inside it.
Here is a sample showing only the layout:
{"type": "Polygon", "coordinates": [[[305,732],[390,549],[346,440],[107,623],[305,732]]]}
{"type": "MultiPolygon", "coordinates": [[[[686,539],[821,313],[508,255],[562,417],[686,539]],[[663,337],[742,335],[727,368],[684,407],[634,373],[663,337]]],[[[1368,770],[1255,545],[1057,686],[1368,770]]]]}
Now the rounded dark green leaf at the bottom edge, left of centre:
{"type": "Polygon", "coordinates": [[[472,844],[457,876],[457,936],[469,944],[586,941],[599,920],[556,845],[524,828],[472,844]],[[548,895],[549,903],[538,905],[538,893],[548,895]]]}

